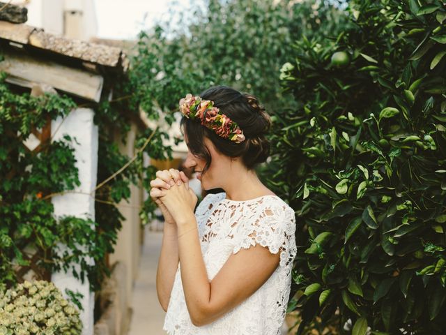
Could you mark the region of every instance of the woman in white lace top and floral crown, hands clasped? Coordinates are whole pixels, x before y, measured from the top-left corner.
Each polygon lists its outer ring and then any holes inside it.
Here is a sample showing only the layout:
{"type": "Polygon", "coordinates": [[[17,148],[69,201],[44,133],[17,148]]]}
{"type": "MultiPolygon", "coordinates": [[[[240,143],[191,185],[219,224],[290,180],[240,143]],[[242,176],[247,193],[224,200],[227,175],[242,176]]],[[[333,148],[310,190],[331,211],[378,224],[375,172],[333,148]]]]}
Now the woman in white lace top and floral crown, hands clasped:
{"type": "Polygon", "coordinates": [[[266,161],[270,117],[257,99],[212,87],[180,100],[197,196],[178,170],[151,181],[164,216],[157,295],[169,334],[280,334],[295,258],[295,214],[254,171],[266,161]]]}

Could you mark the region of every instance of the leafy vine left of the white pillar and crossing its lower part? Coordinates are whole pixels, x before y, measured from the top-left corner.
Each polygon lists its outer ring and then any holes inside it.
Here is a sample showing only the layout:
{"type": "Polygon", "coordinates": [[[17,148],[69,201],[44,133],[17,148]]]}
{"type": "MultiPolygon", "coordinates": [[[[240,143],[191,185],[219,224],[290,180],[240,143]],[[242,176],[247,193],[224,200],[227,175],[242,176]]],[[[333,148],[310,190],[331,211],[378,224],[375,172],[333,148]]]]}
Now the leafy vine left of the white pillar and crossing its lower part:
{"type": "Polygon", "coordinates": [[[21,281],[29,269],[42,277],[63,269],[82,280],[88,276],[97,289],[113,239],[89,218],[56,219],[49,198],[80,184],[75,139],[48,140],[38,151],[24,146],[33,127],[43,127],[47,117],[66,117],[76,104],[66,96],[12,91],[5,77],[0,80],[0,288],[21,281]]]}

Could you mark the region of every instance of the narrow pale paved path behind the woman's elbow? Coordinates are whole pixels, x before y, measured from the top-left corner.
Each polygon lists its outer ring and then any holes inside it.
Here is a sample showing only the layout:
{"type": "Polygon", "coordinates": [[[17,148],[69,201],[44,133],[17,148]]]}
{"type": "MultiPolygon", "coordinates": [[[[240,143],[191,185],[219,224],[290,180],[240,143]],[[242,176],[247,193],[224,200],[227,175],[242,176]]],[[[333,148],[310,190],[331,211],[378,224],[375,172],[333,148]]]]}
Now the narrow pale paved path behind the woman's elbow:
{"type": "Polygon", "coordinates": [[[132,321],[129,335],[166,335],[162,330],[164,315],[156,295],[156,269],[161,250],[162,232],[151,232],[146,237],[137,280],[132,295],[132,321]]]}

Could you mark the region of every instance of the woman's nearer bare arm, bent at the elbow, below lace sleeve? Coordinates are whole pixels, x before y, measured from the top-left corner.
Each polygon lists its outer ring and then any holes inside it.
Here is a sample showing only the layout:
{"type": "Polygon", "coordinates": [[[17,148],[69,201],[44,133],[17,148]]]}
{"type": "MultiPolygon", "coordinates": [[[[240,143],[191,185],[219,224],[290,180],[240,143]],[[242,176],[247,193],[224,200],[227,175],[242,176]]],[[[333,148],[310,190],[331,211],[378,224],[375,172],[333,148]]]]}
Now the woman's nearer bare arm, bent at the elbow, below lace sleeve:
{"type": "Polygon", "coordinates": [[[268,281],[279,265],[279,253],[256,245],[229,256],[208,281],[194,216],[178,223],[178,252],[187,311],[197,327],[220,318],[268,281]]]}

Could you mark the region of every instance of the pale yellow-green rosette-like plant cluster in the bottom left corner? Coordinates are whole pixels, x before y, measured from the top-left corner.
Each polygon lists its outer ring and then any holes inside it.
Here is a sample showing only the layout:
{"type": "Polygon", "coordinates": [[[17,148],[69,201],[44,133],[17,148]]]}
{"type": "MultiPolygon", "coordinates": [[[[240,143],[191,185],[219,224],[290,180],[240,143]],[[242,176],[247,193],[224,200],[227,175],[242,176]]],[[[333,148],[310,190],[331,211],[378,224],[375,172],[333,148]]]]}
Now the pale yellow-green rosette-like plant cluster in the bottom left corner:
{"type": "Polygon", "coordinates": [[[0,292],[0,335],[79,335],[79,311],[47,281],[25,281],[0,292]]]}

